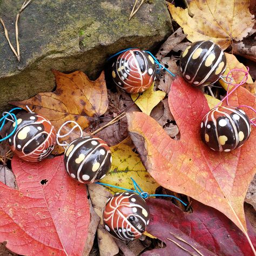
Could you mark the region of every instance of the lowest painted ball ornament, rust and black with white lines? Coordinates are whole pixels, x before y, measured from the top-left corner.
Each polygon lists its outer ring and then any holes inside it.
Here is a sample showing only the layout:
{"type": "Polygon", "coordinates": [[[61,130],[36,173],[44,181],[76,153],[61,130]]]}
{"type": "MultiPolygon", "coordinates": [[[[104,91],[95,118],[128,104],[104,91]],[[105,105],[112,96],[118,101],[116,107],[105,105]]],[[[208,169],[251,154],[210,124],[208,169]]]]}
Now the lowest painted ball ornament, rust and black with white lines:
{"type": "Polygon", "coordinates": [[[139,238],[149,224],[149,207],[136,193],[116,193],[103,210],[105,229],[123,241],[139,238]]]}

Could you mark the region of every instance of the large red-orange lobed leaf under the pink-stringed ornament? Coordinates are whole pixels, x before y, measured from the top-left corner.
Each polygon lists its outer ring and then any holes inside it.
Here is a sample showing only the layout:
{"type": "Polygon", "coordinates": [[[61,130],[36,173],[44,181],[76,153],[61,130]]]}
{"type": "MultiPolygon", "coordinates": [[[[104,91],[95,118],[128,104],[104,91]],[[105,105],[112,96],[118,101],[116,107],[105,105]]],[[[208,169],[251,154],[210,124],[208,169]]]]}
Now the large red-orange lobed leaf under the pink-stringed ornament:
{"type": "MultiPolygon", "coordinates": [[[[230,97],[230,104],[255,109],[256,100],[239,87],[230,97]]],[[[215,152],[200,138],[201,120],[210,110],[203,93],[177,77],[171,86],[169,105],[180,130],[179,141],[172,140],[146,114],[127,114],[130,136],[144,166],[158,184],[223,212],[247,235],[243,204],[256,172],[255,129],[239,149],[215,152]]],[[[254,116],[253,111],[246,112],[254,116]]]]}

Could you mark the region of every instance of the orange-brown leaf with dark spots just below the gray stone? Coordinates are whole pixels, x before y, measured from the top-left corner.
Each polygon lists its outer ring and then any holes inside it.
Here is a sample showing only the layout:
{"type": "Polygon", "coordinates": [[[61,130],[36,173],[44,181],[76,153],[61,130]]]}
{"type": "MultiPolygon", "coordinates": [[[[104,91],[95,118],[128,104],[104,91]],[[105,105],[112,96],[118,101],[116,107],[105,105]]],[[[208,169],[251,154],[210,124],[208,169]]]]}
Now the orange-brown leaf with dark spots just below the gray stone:
{"type": "MultiPolygon", "coordinates": [[[[95,81],[91,81],[82,71],[64,74],[54,70],[53,73],[57,83],[56,91],[38,93],[28,100],[10,104],[23,109],[28,105],[33,112],[48,118],[56,131],[68,120],[76,121],[82,129],[97,122],[109,104],[104,72],[95,81]]],[[[55,153],[63,151],[59,147],[55,153]]]]}

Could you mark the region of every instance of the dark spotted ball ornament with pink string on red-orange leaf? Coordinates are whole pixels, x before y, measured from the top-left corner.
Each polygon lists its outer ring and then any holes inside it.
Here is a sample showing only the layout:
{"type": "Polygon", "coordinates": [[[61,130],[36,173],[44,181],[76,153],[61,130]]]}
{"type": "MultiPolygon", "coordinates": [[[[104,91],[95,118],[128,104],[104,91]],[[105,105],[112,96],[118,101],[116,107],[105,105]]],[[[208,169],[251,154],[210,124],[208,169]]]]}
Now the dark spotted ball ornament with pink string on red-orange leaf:
{"type": "Polygon", "coordinates": [[[246,142],[250,133],[250,119],[238,107],[215,107],[201,122],[201,137],[215,151],[237,149],[246,142]]]}

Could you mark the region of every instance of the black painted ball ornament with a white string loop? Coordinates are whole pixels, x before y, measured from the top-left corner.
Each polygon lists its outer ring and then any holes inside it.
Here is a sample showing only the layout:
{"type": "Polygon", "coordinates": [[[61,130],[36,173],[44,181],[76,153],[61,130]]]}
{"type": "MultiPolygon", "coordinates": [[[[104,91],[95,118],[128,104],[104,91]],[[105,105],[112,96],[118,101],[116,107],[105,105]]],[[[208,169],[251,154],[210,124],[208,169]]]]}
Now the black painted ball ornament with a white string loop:
{"type": "Polygon", "coordinates": [[[73,140],[66,147],[64,164],[70,177],[80,183],[93,183],[109,172],[112,157],[104,140],[85,136],[73,140]]]}

